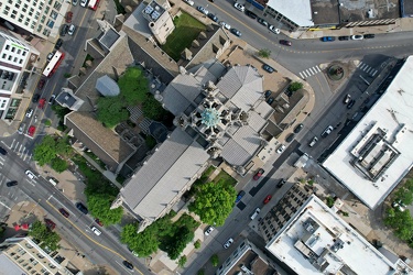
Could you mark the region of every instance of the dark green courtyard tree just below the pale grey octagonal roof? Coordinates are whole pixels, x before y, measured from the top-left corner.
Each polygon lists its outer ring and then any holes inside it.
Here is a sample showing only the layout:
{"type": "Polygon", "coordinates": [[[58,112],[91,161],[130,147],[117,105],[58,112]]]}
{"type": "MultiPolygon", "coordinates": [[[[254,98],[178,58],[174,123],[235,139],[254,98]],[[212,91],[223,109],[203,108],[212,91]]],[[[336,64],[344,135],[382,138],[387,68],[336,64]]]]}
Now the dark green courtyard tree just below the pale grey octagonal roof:
{"type": "Polygon", "coordinates": [[[105,127],[112,128],[127,120],[129,112],[124,107],[124,101],[120,96],[117,97],[101,97],[98,100],[97,119],[102,122],[105,127]]]}

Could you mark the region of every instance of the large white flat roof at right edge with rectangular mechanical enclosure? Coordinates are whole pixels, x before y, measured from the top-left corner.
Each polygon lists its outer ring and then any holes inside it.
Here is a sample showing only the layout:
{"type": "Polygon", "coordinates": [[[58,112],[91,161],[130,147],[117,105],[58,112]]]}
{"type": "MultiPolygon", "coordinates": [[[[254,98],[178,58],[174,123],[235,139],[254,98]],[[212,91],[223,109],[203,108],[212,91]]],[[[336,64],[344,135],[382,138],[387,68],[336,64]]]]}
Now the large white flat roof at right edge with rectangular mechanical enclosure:
{"type": "Polygon", "coordinates": [[[413,163],[413,56],[323,166],[374,209],[413,163]]]}

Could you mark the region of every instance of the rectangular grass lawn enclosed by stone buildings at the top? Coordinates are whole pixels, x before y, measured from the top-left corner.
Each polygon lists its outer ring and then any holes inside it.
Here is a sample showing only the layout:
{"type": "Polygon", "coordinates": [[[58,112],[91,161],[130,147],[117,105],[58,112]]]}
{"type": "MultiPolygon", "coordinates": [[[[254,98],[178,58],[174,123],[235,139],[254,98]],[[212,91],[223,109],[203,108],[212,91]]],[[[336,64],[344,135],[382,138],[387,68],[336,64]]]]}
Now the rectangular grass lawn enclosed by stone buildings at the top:
{"type": "Polygon", "coordinates": [[[174,19],[175,30],[167,36],[166,43],[162,50],[174,61],[181,58],[181,53],[185,47],[191,47],[192,42],[198,37],[199,33],[206,30],[206,26],[188,13],[174,19]]]}

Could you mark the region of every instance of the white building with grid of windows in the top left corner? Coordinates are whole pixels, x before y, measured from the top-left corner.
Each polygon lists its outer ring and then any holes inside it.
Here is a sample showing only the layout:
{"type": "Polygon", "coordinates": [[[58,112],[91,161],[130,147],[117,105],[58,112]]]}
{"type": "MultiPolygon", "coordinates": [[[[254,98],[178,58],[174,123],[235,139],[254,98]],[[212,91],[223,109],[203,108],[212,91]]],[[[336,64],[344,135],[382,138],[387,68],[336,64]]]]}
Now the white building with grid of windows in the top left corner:
{"type": "Polygon", "coordinates": [[[12,31],[17,26],[42,38],[56,37],[68,6],[64,0],[2,0],[0,18],[12,31]]]}

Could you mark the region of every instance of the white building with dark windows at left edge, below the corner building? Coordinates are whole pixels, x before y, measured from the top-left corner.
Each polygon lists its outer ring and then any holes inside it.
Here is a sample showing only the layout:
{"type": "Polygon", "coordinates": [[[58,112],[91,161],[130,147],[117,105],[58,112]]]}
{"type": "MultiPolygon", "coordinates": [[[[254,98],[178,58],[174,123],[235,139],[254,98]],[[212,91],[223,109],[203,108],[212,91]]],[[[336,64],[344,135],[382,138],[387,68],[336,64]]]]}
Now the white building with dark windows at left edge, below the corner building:
{"type": "Polygon", "coordinates": [[[0,119],[14,119],[24,88],[24,72],[33,68],[39,52],[0,31],[0,119]]]}

